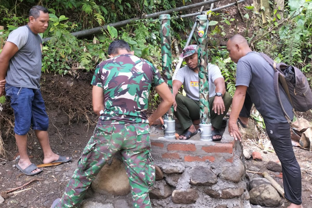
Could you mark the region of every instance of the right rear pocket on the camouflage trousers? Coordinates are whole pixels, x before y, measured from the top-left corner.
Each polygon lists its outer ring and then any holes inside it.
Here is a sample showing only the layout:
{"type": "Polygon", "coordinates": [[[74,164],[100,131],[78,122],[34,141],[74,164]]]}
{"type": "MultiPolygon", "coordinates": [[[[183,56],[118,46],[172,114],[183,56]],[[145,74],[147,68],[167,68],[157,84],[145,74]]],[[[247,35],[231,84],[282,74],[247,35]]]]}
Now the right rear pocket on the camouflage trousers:
{"type": "Polygon", "coordinates": [[[136,131],[136,150],[150,149],[149,124],[142,123],[135,126],[136,131]]]}

